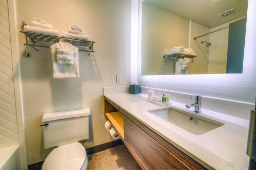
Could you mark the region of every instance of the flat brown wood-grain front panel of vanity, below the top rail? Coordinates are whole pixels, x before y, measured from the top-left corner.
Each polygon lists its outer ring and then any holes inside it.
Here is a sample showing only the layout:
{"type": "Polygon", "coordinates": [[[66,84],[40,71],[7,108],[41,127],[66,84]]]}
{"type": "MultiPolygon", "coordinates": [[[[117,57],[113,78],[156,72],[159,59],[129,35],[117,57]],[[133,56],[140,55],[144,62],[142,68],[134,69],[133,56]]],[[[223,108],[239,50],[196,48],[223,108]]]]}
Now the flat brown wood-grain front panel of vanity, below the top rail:
{"type": "Polygon", "coordinates": [[[124,140],[129,143],[146,169],[190,169],[125,116],[124,128],[124,140]]]}

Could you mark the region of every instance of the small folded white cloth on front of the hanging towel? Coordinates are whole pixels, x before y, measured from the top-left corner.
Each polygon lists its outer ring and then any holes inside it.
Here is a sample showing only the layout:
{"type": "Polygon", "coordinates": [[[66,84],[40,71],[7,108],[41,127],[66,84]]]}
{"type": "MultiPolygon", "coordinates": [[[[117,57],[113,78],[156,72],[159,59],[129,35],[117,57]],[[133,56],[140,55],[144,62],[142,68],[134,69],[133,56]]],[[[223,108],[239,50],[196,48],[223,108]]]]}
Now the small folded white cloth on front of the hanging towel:
{"type": "Polygon", "coordinates": [[[57,48],[57,63],[74,64],[74,48],[57,48]]]}

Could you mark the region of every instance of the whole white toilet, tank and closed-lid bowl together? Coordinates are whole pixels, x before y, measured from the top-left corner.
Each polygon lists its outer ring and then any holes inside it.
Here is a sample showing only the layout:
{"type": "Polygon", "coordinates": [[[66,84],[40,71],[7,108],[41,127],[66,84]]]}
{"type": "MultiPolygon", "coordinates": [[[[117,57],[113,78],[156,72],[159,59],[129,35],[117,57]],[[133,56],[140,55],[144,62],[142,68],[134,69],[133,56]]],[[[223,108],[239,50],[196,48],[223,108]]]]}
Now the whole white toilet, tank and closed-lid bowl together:
{"type": "Polygon", "coordinates": [[[45,113],[42,116],[44,148],[53,148],[42,170],[87,169],[86,149],[78,141],[89,138],[90,109],[45,113]]]}

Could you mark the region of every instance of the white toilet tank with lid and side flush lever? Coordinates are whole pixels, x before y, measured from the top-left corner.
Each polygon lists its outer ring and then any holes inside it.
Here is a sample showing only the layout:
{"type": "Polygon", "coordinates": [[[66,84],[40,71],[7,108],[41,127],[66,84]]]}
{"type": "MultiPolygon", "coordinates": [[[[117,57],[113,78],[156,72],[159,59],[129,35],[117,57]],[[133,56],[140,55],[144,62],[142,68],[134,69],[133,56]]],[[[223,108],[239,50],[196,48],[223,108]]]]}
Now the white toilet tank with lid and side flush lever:
{"type": "Polygon", "coordinates": [[[90,109],[45,113],[44,148],[52,148],[89,138],[90,109]]]}

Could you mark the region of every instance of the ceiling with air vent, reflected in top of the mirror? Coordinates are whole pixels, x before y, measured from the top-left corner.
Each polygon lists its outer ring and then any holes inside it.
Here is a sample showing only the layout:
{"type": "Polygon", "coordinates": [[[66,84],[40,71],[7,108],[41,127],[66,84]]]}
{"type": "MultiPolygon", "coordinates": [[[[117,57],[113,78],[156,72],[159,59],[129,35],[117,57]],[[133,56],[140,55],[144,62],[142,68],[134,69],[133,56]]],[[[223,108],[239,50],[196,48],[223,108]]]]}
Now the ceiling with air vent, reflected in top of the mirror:
{"type": "MultiPolygon", "coordinates": [[[[247,15],[247,0],[144,0],[143,3],[152,4],[176,15],[191,19],[208,28],[247,15]],[[236,8],[239,12],[225,18],[218,14],[236,8]]],[[[143,6],[142,6],[143,10],[143,6]]]]}

